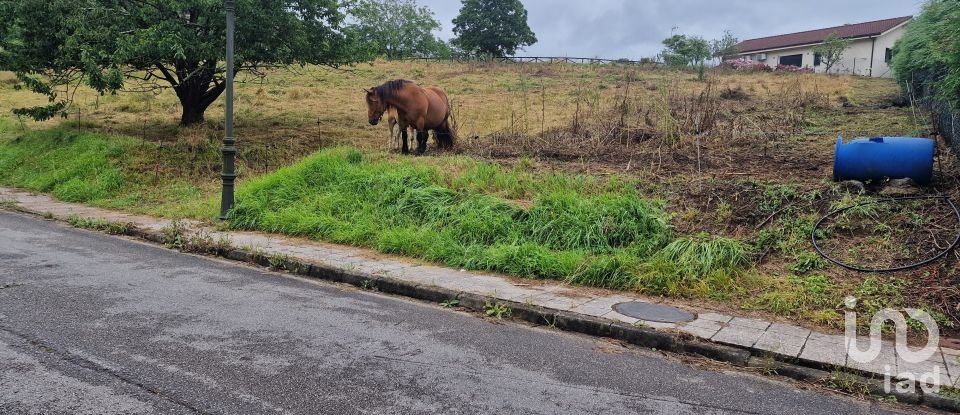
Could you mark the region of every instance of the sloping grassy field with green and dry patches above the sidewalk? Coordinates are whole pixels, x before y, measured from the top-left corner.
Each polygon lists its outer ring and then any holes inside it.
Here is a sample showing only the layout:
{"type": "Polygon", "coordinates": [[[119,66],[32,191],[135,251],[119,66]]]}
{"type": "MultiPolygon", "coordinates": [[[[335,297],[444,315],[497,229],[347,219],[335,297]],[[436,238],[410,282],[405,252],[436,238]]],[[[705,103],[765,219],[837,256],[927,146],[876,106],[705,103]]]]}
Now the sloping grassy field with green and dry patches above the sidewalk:
{"type": "MultiPolygon", "coordinates": [[[[916,128],[909,110],[870,109],[896,91],[889,83],[718,73],[711,88],[739,92],[697,101],[684,98],[704,88],[690,74],[617,67],[378,63],[274,75],[238,91],[243,180],[231,222],[238,228],[520,277],[697,298],[828,326],[842,322],[846,295],[864,299],[864,315],[882,306],[943,310],[910,295],[910,281],[835,270],[809,248],[817,209],[856,200],[825,184],[836,133],[916,128]],[[464,137],[494,141],[466,140],[467,155],[418,159],[379,150],[386,134],[365,125],[358,87],[399,77],[447,87],[458,100],[464,137]],[[806,104],[778,98],[791,88],[812,91],[820,103],[794,107],[806,104]],[[823,104],[839,100],[857,107],[823,104]],[[712,107],[700,111],[721,122],[715,137],[703,137],[698,160],[678,121],[699,116],[689,108],[703,102],[712,107]],[[781,114],[771,115],[771,105],[783,106],[781,114]],[[477,158],[485,154],[478,146],[505,138],[530,148],[539,142],[542,151],[559,143],[551,144],[551,134],[584,136],[573,141],[577,148],[609,147],[601,130],[618,108],[623,131],[670,128],[676,135],[617,137],[626,140],[621,150],[637,157],[629,161],[589,151],[574,153],[572,161],[549,154],[477,158]],[[748,130],[781,122],[791,127],[773,139],[748,130]],[[728,134],[740,138],[729,141],[728,134]],[[772,155],[741,151],[749,146],[772,155]],[[309,155],[318,147],[326,149],[309,155]],[[288,167],[274,171],[279,166],[288,167]]],[[[172,94],[78,96],[79,123],[50,128],[0,118],[0,183],[133,212],[214,217],[217,107],[205,125],[176,129],[172,94]]],[[[4,112],[35,99],[0,82],[4,112]]]]}

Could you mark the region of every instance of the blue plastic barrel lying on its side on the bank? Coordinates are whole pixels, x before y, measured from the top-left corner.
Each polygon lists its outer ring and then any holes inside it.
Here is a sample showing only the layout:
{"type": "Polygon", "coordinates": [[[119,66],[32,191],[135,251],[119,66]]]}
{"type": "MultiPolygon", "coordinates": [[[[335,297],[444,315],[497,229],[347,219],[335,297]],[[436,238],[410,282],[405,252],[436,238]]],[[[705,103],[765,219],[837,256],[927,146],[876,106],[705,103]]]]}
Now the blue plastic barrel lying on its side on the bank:
{"type": "Polygon", "coordinates": [[[858,138],[847,144],[837,138],[833,179],[881,180],[910,178],[928,184],[933,178],[936,144],[929,138],[858,138]]]}

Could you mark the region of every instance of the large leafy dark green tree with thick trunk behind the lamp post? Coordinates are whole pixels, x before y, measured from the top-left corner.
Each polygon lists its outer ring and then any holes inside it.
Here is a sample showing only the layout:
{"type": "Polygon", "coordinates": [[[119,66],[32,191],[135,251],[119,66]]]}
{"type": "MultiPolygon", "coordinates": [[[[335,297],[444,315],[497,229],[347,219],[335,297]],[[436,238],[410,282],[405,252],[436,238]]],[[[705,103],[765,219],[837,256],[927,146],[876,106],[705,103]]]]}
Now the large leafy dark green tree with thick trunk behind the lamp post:
{"type": "MultiPolygon", "coordinates": [[[[337,66],[365,57],[337,0],[237,0],[238,72],[337,66]]],[[[48,119],[87,84],[116,92],[138,78],[173,88],[181,125],[203,121],[228,74],[223,0],[0,0],[0,69],[50,104],[18,114],[48,119]]]]}

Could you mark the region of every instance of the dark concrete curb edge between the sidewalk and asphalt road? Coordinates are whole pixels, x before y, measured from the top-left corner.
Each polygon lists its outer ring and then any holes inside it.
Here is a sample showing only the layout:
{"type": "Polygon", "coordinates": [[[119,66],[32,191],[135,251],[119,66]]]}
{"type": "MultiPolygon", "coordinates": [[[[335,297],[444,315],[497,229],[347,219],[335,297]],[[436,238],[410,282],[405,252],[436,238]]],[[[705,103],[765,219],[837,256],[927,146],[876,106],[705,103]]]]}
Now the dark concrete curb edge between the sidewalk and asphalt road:
{"type": "MultiPolygon", "coordinates": [[[[51,218],[49,215],[31,211],[18,205],[14,205],[14,210],[40,216],[45,219],[65,222],[64,220],[51,218]]],[[[159,245],[164,244],[164,235],[158,231],[131,227],[129,236],[159,245]]],[[[243,248],[234,247],[224,252],[219,252],[216,256],[232,261],[275,269],[271,266],[269,257],[243,248]]],[[[882,380],[873,378],[865,372],[858,372],[845,367],[830,367],[802,359],[788,358],[760,349],[722,345],[704,341],[693,335],[679,331],[632,326],[570,311],[554,310],[469,292],[417,284],[361,271],[344,270],[328,264],[304,261],[292,257],[285,261],[285,266],[280,271],[287,271],[296,275],[324,281],[349,284],[362,289],[413,298],[435,304],[456,299],[459,301],[458,307],[473,312],[482,313],[488,304],[499,304],[510,309],[510,318],[526,321],[535,325],[548,326],[595,337],[611,338],[644,348],[701,356],[729,363],[737,367],[762,369],[768,373],[804,382],[831,385],[831,382],[836,378],[831,371],[839,370],[847,373],[848,380],[852,380],[856,382],[857,385],[864,387],[872,396],[893,397],[900,403],[910,403],[960,413],[960,394],[947,396],[925,393],[916,383],[914,383],[913,388],[915,392],[901,392],[894,388],[892,393],[888,393],[885,391],[885,385],[882,380]]]]}

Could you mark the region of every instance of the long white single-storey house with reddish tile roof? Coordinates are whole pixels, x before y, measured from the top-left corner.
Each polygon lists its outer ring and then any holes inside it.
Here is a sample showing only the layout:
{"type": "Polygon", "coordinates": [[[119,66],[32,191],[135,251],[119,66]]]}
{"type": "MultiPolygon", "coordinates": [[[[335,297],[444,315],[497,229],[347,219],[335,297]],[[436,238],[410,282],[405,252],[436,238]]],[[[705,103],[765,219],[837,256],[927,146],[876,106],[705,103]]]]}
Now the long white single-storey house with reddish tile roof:
{"type": "Polygon", "coordinates": [[[737,51],[740,58],[763,62],[771,67],[791,65],[813,68],[824,72],[826,67],[813,48],[836,33],[850,40],[850,47],[830,73],[854,74],[889,78],[893,45],[903,35],[904,28],[913,16],[877,20],[874,22],[847,24],[826,29],[750,39],[740,42],[737,51]]]}

